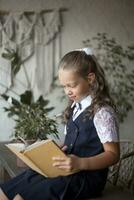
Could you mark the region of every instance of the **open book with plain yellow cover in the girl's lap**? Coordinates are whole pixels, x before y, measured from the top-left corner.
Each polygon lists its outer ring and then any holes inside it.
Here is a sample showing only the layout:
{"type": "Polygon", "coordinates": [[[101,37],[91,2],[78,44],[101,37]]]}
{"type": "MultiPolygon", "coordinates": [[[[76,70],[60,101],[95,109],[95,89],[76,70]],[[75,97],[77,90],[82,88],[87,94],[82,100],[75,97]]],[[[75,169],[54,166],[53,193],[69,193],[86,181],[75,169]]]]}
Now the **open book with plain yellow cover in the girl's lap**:
{"type": "Polygon", "coordinates": [[[24,149],[24,144],[10,143],[6,146],[27,166],[46,177],[66,176],[74,173],[66,172],[53,166],[52,157],[66,157],[66,154],[51,139],[33,143],[24,149]]]}

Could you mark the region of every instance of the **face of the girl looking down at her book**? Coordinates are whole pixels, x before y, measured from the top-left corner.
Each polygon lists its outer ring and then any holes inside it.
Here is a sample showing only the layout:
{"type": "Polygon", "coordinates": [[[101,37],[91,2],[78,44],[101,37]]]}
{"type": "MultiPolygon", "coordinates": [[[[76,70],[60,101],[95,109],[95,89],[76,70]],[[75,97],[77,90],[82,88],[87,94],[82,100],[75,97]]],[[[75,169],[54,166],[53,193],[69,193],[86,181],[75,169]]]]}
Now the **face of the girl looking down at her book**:
{"type": "Polygon", "coordinates": [[[84,79],[73,70],[60,69],[59,81],[70,100],[79,102],[89,95],[89,78],[84,79]]]}

